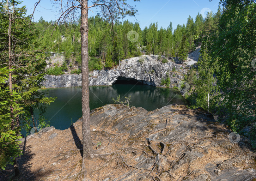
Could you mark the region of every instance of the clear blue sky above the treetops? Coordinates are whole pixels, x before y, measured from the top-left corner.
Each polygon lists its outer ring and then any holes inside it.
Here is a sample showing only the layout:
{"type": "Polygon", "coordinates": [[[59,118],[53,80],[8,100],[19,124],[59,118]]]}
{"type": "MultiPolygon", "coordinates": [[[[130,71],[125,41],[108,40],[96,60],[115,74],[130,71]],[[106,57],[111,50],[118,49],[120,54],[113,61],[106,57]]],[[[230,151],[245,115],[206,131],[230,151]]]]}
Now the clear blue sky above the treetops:
{"type": "MultiPolygon", "coordinates": [[[[27,13],[31,14],[33,12],[34,3],[38,0],[24,0],[22,5],[27,7],[27,13]]],[[[92,4],[91,1],[88,1],[92,4]]],[[[149,27],[152,22],[158,21],[158,29],[160,27],[167,28],[172,21],[173,29],[177,27],[178,24],[185,23],[189,15],[192,16],[195,21],[196,15],[201,13],[203,16],[206,15],[208,11],[213,13],[217,12],[219,0],[141,0],[140,2],[134,2],[133,0],[127,0],[130,5],[136,5],[138,10],[138,15],[136,19],[131,17],[126,17],[132,22],[138,22],[141,29],[144,27],[149,27]]],[[[92,9],[93,11],[95,9],[92,9]]],[[[88,12],[89,16],[95,16],[95,13],[91,11],[88,12]]],[[[37,11],[34,14],[35,21],[38,21],[40,17],[43,16],[44,20],[51,21],[56,20],[55,7],[52,7],[50,0],[41,0],[40,6],[37,6],[37,11]]]]}

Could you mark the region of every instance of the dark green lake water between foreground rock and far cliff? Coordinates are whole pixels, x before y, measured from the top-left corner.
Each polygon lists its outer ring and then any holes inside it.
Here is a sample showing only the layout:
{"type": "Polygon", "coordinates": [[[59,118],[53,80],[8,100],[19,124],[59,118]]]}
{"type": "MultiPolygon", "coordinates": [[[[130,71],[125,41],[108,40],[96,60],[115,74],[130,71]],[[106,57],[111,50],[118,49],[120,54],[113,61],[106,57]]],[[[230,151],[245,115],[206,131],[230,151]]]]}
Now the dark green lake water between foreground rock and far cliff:
{"type": "MultiPolygon", "coordinates": [[[[120,95],[131,96],[131,105],[143,107],[148,111],[170,104],[187,105],[187,101],[178,90],[148,85],[113,84],[112,86],[92,86],[90,90],[90,110],[113,104],[112,98],[120,95]]],[[[49,97],[57,99],[47,107],[45,118],[56,129],[67,129],[72,122],[82,117],[82,87],[47,88],[49,97]]]]}

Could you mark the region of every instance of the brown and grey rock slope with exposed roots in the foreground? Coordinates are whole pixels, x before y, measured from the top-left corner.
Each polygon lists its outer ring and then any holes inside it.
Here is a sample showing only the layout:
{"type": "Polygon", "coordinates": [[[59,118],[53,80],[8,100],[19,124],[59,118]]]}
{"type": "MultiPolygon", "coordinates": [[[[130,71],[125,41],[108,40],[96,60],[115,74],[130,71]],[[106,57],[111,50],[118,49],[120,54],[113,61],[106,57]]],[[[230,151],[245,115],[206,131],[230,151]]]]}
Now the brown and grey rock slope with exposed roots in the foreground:
{"type": "MultiPolygon", "coordinates": [[[[169,105],[146,111],[106,105],[90,112],[98,155],[85,161],[82,179],[82,120],[67,130],[25,138],[15,180],[243,181],[256,179],[255,153],[247,140],[229,141],[231,130],[201,108],[169,105]],[[111,110],[111,111],[110,111],[111,110]]],[[[7,169],[8,175],[13,171],[7,169]]],[[[6,178],[8,178],[6,176],[6,178]]]]}

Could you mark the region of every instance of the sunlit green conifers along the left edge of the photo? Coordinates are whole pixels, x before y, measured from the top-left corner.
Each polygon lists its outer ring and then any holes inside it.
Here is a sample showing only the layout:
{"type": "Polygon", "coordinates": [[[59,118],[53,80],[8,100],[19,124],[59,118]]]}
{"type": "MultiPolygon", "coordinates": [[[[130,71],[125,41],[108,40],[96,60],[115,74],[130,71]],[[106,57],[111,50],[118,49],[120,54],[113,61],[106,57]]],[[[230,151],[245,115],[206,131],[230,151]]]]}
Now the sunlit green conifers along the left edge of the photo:
{"type": "Polygon", "coordinates": [[[45,94],[39,91],[41,81],[45,80],[45,73],[42,72],[46,68],[46,57],[41,51],[37,51],[40,46],[39,32],[34,27],[34,23],[28,23],[31,16],[26,16],[26,9],[25,6],[21,7],[21,2],[15,0],[4,0],[0,3],[0,34],[3,35],[0,37],[2,42],[0,44],[0,167],[2,169],[6,164],[14,164],[15,157],[21,155],[19,142],[16,141],[21,137],[17,135],[20,135],[22,127],[32,128],[32,122],[35,123],[31,120],[34,117],[34,109],[39,109],[40,116],[37,119],[39,127],[46,125],[41,114],[44,112],[41,110],[45,104],[54,100],[46,98],[45,94]],[[9,10],[12,14],[10,20],[7,13],[9,10]],[[9,51],[4,47],[9,43],[8,32],[12,37],[9,54],[11,58],[7,58],[9,51]],[[9,60],[13,69],[7,70],[9,60]],[[9,85],[10,83],[12,86],[9,85]],[[9,87],[12,87],[11,90],[9,87]]]}

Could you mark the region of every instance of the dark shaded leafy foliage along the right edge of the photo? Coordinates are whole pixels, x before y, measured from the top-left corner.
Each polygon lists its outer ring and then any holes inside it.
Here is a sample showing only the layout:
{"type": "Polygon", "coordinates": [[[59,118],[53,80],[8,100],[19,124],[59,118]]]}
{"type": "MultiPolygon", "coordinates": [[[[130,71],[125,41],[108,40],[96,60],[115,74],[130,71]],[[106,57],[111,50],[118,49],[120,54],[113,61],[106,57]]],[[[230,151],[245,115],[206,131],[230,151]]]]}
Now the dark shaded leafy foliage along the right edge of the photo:
{"type": "MultiPolygon", "coordinates": [[[[216,107],[233,131],[243,133],[250,126],[252,146],[255,145],[255,87],[256,71],[253,59],[256,57],[256,3],[254,1],[227,1],[224,10],[206,23],[210,33],[205,41],[214,68],[222,101],[216,107]],[[218,26],[213,26],[219,22],[218,26]],[[211,28],[210,28],[211,27],[211,28]],[[214,31],[211,31],[211,30],[214,31]],[[254,133],[254,135],[253,135],[254,133]]],[[[221,11],[221,10],[219,10],[221,11]]]]}

